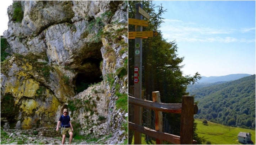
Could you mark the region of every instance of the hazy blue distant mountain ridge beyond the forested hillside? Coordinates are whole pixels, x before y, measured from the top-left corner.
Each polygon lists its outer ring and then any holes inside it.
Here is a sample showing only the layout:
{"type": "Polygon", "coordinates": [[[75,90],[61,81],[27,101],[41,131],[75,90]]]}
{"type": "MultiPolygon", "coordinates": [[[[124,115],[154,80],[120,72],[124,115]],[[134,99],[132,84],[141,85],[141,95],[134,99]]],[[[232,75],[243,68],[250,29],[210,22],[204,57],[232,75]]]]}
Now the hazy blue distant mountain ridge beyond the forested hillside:
{"type": "Polygon", "coordinates": [[[226,81],[234,81],[240,79],[242,77],[250,76],[251,74],[230,74],[225,76],[202,76],[202,79],[198,81],[198,83],[214,83],[214,82],[226,82],[226,81]]]}

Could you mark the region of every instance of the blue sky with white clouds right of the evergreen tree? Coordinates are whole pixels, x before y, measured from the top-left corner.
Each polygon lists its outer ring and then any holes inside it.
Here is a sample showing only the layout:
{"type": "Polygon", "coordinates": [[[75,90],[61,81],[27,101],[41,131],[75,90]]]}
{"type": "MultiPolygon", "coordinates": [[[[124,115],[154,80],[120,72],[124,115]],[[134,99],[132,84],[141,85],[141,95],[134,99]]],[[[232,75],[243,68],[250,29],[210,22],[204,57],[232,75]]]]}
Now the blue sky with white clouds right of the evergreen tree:
{"type": "Polygon", "coordinates": [[[153,1],[161,32],[176,40],[184,75],[255,74],[255,1],[153,1]]]}

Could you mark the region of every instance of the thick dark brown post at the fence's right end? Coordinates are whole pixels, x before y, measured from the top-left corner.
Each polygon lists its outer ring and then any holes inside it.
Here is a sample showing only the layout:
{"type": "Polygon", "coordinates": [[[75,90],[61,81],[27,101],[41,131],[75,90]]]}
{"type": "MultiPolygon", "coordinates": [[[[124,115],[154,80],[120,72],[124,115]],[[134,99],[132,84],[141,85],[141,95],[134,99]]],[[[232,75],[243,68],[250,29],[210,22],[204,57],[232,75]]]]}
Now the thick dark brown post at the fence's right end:
{"type": "Polygon", "coordinates": [[[193,144],[194,124],[194,98],[193,96],[182,96],[181,107],[181,144],[193,144]]]}

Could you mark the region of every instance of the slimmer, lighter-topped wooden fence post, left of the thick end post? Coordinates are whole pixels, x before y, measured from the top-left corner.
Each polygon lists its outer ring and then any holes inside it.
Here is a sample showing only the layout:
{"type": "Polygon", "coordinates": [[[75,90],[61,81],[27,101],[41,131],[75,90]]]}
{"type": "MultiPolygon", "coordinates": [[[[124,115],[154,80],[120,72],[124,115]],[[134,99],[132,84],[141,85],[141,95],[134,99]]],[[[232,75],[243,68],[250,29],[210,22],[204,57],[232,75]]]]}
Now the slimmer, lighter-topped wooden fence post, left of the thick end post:
{"type": "MultiPolygon", "coordinates": [[[[153,96],[153,102],[161,103],[160,99],[160,92],[152,92],[153,96]]],[[[161,111],[155,111],[155,130],[162,132],[162,112],[161,111]]],[[[156,144],[162,144],[162,140],[156,139],[156,144]]]]}

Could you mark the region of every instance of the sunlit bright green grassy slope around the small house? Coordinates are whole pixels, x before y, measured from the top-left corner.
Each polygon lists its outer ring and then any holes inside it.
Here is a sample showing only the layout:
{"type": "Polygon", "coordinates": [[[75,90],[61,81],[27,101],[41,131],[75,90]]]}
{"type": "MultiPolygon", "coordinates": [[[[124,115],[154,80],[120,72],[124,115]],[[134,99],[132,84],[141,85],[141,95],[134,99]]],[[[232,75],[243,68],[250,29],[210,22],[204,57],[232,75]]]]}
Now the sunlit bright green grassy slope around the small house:
{"type": "Polygon", "coordinates": [[[204,136],[206,141],[210,141],[211,144],[239,144],[237,135],[240,131],[251,132],[252,141],[255,144],[255,130],[228,127],[212,122],[203,125],[202,119],[195,119],[195,122],[197,123],[196,133],[198,136],[204,136]]]}

